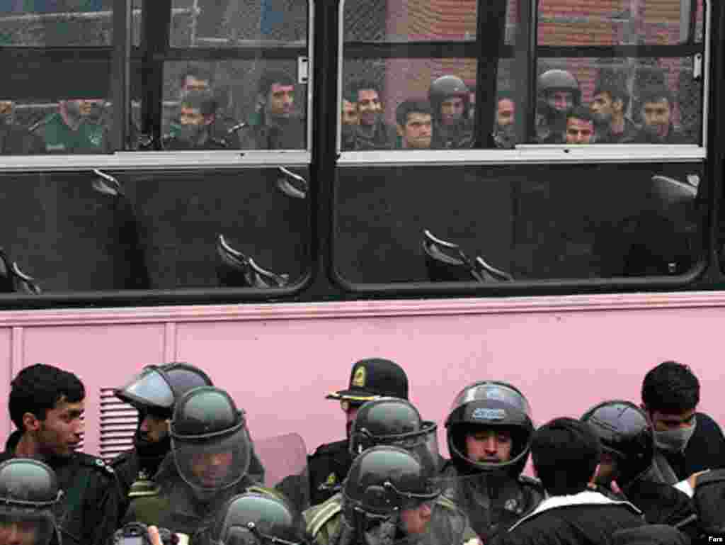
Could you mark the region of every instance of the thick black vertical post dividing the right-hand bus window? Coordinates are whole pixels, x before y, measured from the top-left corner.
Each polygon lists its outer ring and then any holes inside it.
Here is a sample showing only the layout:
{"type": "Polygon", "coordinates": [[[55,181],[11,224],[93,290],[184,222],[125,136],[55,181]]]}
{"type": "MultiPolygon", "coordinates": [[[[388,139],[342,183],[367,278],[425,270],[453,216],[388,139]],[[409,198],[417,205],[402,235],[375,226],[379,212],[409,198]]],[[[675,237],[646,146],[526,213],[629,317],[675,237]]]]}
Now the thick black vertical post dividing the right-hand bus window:
{"type": "Polygon", "coordinates": [[[506,39],[507,0],[479,0],[476,8],[476,133],[474,147],[492,147],[498,65],[506,39]]]}

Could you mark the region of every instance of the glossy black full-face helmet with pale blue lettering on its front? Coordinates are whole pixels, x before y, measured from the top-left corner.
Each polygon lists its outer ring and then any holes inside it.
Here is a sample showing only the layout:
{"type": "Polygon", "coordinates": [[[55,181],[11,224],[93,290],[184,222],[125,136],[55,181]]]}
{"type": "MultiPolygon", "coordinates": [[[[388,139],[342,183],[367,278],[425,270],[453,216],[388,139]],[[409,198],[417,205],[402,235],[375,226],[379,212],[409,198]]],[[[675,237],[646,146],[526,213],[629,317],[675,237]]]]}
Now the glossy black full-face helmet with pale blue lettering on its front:
{"type": "Polygon", "coordinates": [[[455,464],[468,472],[521,475],[531,451],[534,423],[529,401],[508,382],[483,380],[463,388],[446,419],[448,449],[455,464]],[[506,462],[481,462],[467,456],[465,438],[482,429],[508,430],[513,446],[506,462]]]}

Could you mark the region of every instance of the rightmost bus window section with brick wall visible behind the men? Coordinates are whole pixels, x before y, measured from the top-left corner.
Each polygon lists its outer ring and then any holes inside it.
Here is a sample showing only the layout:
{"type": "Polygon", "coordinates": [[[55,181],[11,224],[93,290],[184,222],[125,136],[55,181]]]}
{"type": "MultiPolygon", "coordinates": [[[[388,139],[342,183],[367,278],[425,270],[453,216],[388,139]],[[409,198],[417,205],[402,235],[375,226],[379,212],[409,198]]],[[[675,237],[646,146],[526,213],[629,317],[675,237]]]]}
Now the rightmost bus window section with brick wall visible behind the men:
{"type": "Polygon", "coordinates": [[[539,2],[531,142],[700,144],[703,1],[610,2],[582,13],[565,4],[539,2]],[[615,56],[566,56],[587,46],[615,56]]]}

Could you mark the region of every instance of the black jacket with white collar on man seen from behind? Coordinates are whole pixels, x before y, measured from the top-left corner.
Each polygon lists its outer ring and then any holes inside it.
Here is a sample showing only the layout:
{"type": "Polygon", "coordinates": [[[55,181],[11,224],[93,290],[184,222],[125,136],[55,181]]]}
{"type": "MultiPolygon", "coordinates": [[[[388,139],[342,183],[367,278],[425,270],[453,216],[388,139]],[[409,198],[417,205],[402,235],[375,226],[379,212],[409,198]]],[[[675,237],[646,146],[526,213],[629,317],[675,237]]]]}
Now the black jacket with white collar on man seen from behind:
{"type": "Polygon", "coordinates": [[[609,545],[616,530],[644,524],[642,512],[629,502],[614,501],[598,492],[584,491],[545,499],[508,532],[499,533],[492,543],[609,545]]]}

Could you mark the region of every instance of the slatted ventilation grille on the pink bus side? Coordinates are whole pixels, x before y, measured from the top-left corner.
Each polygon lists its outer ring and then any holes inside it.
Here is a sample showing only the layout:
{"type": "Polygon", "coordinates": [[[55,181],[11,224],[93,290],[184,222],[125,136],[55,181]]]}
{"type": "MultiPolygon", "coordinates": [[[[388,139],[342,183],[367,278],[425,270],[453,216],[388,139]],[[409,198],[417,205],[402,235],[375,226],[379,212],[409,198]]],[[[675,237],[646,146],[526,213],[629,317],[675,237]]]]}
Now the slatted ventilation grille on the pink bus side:
{"type": "Polygon", "coordinates": [[[113,388],[101,388],[101,458],[111,460],[133,447],[138,411],[113,395],[113,388]]]}

